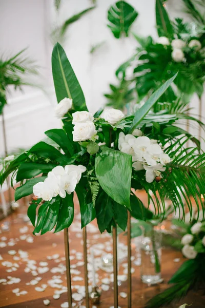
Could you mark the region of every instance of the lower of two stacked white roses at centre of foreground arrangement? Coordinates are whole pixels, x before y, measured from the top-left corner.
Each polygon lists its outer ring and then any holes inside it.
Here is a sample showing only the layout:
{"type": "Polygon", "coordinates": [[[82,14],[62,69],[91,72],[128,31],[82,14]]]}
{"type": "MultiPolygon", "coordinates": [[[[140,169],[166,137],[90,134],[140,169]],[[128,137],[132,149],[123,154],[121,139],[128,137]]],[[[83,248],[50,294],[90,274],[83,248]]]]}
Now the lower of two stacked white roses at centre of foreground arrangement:
{"type": "Polygon", "coordinates": [[[76,123],[73,128],[73,141],[85,141],[85,140],[96,140],[97,131],[95,124],[91,121],[86,123],[76,123]]]}

